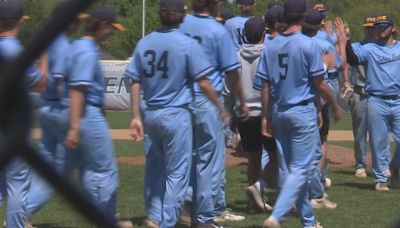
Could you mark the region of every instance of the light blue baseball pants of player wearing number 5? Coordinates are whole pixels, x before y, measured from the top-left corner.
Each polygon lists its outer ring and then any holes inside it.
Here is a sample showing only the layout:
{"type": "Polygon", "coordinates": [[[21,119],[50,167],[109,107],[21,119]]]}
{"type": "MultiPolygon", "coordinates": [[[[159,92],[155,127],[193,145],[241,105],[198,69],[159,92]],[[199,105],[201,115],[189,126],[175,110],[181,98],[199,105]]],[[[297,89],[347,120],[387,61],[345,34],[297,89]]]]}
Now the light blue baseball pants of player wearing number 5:
{"type": "Polygon", "coordinates": [[[320,147],[316,123],[317,111],[313,103],[277,107],[273,112],[272,126],[278,156],[287,166],[287,173],[280,177],[283,185],[271,215],[279,222],[296,205],[303,225],[311,227],[315,224],[307,190],[308,178],[314,167],[312,164],[320,147]]]}

